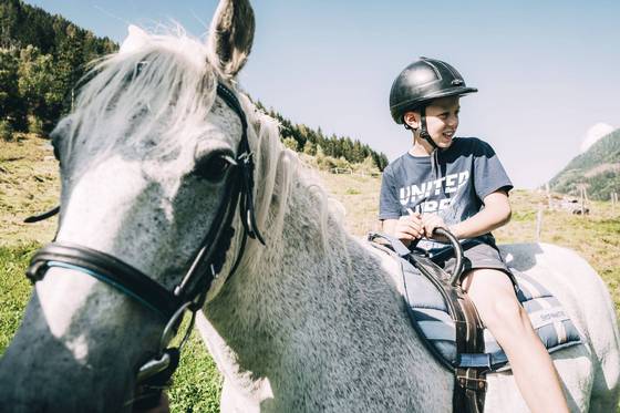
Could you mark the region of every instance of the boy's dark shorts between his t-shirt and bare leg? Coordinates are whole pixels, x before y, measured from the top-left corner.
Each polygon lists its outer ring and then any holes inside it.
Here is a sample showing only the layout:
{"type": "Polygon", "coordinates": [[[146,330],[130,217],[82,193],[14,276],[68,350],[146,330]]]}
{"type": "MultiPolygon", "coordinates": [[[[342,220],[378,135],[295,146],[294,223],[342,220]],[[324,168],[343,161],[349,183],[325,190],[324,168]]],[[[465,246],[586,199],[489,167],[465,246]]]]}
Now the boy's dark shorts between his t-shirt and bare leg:
{"type": "MultiPolygon", "coordinates": [[[[515,276],[508,269],[508,266],[502,258],[499,250],[495,245],[489,245],[486,242],[482,242],[478,240],[466,240],[462,244],[463,246],[463,273],[467,273],[474,269],[495,269],[502,271],[508,276],[510,282],[516,287],[517,281],[515,276]]],[[[430,252],[433,252],[431,250],[430,252]]],[[[445,257],[445,256],[444,256],[445,257]]],[[[456,258],[454,258],[454,252],[450,254],[450,256],[445,257],[437,257],[438,259],[433,259],[440,267],[452,271],[454,268],[454,262],[456,258]]]]}

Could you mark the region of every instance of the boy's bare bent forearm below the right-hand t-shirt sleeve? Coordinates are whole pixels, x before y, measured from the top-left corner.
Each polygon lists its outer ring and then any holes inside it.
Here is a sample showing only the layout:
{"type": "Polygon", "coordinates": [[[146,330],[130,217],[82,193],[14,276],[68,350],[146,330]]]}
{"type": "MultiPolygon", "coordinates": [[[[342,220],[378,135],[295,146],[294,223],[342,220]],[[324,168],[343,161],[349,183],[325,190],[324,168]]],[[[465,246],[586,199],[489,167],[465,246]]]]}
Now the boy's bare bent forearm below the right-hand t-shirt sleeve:
{"type": "Polygon", "coordinates": [[[451,226],[448,229],[457,238],[472,238],[490,233],[510,220],[508,194],[496,190],[483,199],[485,207],[473,217],[451,226]]]}

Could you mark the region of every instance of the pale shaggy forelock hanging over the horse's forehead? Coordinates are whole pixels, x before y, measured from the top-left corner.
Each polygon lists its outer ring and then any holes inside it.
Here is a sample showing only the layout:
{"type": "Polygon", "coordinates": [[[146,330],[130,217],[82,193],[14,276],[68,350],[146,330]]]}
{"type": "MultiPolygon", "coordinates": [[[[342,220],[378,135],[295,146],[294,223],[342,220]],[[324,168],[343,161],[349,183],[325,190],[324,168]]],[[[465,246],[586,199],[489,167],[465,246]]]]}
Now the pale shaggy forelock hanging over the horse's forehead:
{"type": "Polygon", "coordinates": [[[117,144],[170,153],[204,132],[217,73],[206,47],[185,35],[151,35],[140,49],[108,55],[85,75],[75,110],[54,134],[84,149],[117,144]]]}

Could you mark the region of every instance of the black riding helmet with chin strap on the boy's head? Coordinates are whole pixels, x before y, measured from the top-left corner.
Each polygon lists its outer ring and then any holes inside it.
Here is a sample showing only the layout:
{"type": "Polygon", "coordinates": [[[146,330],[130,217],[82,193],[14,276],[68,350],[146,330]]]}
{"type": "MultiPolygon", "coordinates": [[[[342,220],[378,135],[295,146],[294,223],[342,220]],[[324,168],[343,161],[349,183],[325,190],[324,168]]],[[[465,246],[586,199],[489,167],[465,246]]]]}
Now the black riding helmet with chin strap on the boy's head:
{"type": "MultiPolygon", "coordinates": [[[[420,134],[436,147],[426,131],[425,106],[434,99],[462,96],[477,91],[475,87],[467,87],[461,73],[446,62],[420,58],[406,66],[392,83],[390,112],[394,122],[403,124],[406,112],[420,110],[422,114],[420,134]]],[[[409,128],[406,124],[405,127],[409,128]]]]}

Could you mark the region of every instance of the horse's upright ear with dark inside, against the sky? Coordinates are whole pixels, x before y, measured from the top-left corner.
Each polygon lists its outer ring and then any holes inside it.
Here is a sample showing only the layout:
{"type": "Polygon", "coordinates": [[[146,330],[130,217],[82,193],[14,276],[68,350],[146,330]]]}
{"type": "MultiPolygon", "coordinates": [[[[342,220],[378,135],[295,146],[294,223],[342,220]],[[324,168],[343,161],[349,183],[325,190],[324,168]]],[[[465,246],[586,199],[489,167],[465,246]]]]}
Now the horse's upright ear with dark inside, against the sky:
{"type": "Polygon", "coordinates": [[[221,0],[209,30],[211,63],[235,76],[246,63],[254,40],[254,11],[248,0],[221,0]]]}

